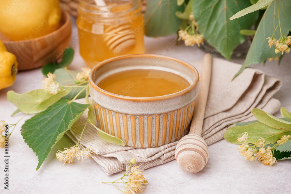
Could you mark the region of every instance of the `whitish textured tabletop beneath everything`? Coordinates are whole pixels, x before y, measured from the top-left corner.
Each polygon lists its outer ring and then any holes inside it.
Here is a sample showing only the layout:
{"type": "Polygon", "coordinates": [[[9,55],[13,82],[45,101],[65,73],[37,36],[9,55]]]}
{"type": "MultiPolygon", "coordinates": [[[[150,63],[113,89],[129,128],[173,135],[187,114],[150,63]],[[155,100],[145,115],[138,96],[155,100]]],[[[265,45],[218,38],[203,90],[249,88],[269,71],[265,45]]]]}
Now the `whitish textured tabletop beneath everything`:
{"type": "MultiPolygon", "coordinates": [[[[73,19],[73,24],[75,20],[73,19]]],[[[175,36],[164,38],[145,38],[146,53],[165,55],[191,62],[203,57],[204,52],[197,47],[175,45],[175,36]]],[[[75,49],[75,57],[70,69],[79,70],[85,67],[79,56],[77,28],[73,26],[71,46],[75,49]]],[[[236,60],[242,63],[242,60],[236,60]]],[[[266,74],[284,80],[283,87],[274,96],[282,106],[291,110],[291,54],[286,54],[280,66],[276,62],[267,62],[265,66],[256,65],[266,74]]],[[[12,124],[22,114],[10,117],[15,107],[6,100],[6,92],[14,90],[18,93],[41,88],[43,75],[40,69],[20,72],[15,84],[0,91],[0,120],[12,124]],[[13,108],[10,108],[13,107],[13,108]]],[[[276,116],[280,116],[277,113],[276,116]]],[[[26,119],[31,115],[26,116],[26,119]]],[[[120,193],[113,185],[102,184],[102,181],[113,181],[121,174],[106,176],[99,165],[93,161],[84,161],[72,165],[62,165],[55,153],[63,146],[69,147],[72,141],[65,137],[49,154],[40,169],[36,171],[37,157],[24,143],[20,135],[22,120],[15,128],[9,145],[9,191],[4,189],[4,150],[0,149],[0,193],[120,193]]],[[[221,140],[209,146],[209,161],[205,168],[197,174],[182,172],[176,161],[171,161],[144,171],[149,184],[147,193],[288,193],[290,191],[291,161],[279,161],[274,166],[265,166],[261,162],[242,159],[236,149],[237,145],[221,140]],[[286,190],[287,189],[287,190],[286,190]]]]}

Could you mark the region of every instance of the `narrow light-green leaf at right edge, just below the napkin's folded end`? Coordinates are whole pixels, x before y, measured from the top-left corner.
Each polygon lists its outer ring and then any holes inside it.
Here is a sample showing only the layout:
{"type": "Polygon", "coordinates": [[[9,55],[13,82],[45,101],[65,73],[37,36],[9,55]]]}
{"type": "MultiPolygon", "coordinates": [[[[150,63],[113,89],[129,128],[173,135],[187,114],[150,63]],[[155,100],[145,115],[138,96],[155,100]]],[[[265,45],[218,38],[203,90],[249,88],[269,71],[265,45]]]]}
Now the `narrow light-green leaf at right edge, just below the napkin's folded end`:
{"type": "Polygon", "coordinates": [[[291,131],[291,122],[285,121],[283,119],[279,119],[258,108],[253,108],[252,113],[254,117],[261,123],[264,123],[276,129],[283,129],[283,130],[291,131]]]}

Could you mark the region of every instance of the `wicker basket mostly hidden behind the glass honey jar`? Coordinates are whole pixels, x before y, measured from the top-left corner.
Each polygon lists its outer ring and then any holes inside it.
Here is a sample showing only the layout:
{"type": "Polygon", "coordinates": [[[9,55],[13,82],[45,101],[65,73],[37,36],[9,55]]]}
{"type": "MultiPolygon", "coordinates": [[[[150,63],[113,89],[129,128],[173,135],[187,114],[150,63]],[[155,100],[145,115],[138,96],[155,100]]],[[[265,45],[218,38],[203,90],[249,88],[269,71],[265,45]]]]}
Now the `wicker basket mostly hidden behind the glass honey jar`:
{"type": "MultiPolygon", "coordinates": [[[[59,0],[61,6],[67,10],[70,15],[77,17],[78,16],[78,4],[79,4],[79,0],[59,0]]],[[[141,0],[142,3],[142,7],[141,7],[141,12],[144,15],[145,10],[146,10],[146,4],[147,4],[147,0],[141,0]]]]}

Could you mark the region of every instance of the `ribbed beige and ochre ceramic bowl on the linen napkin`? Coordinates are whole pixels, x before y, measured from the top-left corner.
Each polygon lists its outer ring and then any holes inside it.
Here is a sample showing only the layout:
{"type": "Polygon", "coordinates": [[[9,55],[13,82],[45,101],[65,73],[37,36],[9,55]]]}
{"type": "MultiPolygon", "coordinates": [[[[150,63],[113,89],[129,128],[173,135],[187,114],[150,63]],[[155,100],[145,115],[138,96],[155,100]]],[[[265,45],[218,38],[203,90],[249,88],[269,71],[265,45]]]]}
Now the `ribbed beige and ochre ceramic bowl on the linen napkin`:
{"type": "Polygon", "coordinates": [[[131,147],[157,147],[180,140],[188,133],[199,90],[197,70],[182,60],[151,54],[114,57],[96,65],[89,75],[96,125],[131,147]],[[191,85],[157,97],[128,97],[97,85],[120,71],[154,69],[175,73],[191,85]],[[177,90],[178,91],[178,90],[177,90]]]}

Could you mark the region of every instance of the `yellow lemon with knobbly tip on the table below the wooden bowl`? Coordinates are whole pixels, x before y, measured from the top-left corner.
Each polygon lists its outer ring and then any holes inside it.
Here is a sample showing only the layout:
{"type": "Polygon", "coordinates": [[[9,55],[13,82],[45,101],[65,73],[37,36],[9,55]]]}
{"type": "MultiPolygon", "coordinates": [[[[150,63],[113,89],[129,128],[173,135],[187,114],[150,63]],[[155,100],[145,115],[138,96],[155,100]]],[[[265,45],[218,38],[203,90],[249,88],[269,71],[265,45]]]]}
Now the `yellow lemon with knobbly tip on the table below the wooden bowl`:
{"type": "Polygon", "coordinates": [[[0,90],[12,86],[17,73],[18,63],[14,54],[0,52],[0,90]]]}

